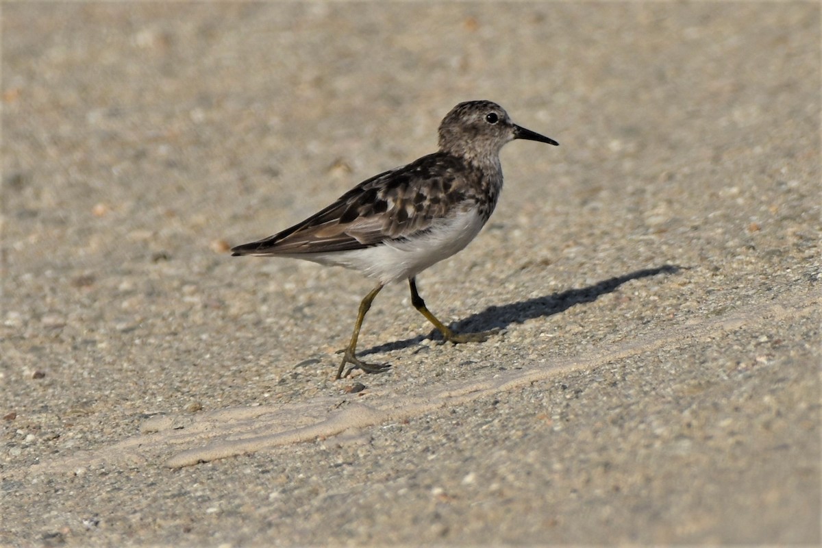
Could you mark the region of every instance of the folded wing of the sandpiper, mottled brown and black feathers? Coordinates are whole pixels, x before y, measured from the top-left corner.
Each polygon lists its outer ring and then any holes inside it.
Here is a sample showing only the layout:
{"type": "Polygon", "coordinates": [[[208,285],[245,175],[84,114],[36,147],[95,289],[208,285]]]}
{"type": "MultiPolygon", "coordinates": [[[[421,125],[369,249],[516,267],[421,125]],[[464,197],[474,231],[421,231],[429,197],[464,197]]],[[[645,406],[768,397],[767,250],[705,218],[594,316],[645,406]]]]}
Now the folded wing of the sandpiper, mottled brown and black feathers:
{"type": "Polygon", "coordinates": [[[233,255],[284,255],[349,251],[424,232],[471,197],[462,160],[435,153],[380,173],[340,196],[302,223],[257,242],[236,246],[233,255]]]}

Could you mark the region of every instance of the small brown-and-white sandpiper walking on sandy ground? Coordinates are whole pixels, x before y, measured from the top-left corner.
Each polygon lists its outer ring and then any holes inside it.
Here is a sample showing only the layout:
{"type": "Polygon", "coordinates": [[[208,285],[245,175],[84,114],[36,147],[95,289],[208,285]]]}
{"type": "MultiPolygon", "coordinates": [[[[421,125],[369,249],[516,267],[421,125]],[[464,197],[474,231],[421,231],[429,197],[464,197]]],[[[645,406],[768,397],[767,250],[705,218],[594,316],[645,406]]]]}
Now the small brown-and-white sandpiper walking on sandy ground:
{"type": "Polygon", "coordinates": [[[336,379],[355,368],[377,373],[389,367],[356,356],[363,319],[386,283],[407,279],[411,304],[446,341],[482,342],[492,331],[457,334],[437,320],[420,297],[415,276],[462,250],[483,228],[502,189],[500,150],[515,139],[559,145],[517,126],[496,103],[460,103],[443,118],[435,153],[375,175],[302,223],[231,251],[339,265],[377,280],[360,303],[336,379]]]}

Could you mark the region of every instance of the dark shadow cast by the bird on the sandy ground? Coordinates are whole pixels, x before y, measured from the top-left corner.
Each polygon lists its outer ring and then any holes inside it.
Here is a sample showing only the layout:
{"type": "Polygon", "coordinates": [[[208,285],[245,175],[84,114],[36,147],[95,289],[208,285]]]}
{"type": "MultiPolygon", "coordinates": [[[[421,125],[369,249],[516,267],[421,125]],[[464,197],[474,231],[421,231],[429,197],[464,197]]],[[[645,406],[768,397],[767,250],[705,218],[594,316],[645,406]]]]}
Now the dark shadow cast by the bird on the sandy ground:
{"type": "MultiPolygon", "coordinates": [[[[615,276],[605,279],[602,282],[594,283],[586,288],[569,289],[567,291],[551,293],[543,297],[533,297],[519,302],[511,302],[502,306],[488,306],[485,310],[469,315],[462,320],[449,325],[457,333],[467,331],[484,331],[487,329],[505,329],[511,324],[521,324],[534,318],[544,318],[549,315],[559,314],[568,310],[571,306],[594,302],[598,297],[614,292],[623,283],[634,279],[649,278],[657,274],[677,274],[688,267],[680,265],[663,265],[652,269],[635,270],[629,274],[615,276]]],[[[409,348],[422,343],[426,338],[442,340],[442,335],[436,329],[427,335],[418,335],[412,338],[384,343],[372,348],[367,348],[359,354],[376,354],[379,352],[390,352],[409,348]]]]}

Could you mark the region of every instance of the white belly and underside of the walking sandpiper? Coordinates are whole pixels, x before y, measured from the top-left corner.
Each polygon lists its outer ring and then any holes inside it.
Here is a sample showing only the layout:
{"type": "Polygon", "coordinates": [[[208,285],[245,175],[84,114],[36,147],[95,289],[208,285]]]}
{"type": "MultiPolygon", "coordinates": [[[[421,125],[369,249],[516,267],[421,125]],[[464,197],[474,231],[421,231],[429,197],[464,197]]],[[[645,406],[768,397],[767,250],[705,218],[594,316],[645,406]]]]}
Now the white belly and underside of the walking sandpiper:
{"type": "Polygon", "coordinates": [[[455,214],[436,223],[423,236],[353,251],[293,254],[295,259],[356,269],[381,283],[409,279],[429,266],[461,251],[483,228],[476,210],[455,214]]]}

